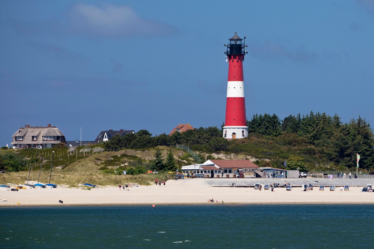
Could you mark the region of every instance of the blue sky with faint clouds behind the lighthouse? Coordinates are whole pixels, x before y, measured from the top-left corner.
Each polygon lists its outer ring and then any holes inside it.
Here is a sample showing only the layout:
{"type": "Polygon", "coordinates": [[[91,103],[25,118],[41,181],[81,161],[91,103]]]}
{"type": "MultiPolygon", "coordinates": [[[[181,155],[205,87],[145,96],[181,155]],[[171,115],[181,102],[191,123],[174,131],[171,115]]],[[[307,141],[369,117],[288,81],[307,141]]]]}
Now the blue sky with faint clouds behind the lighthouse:
{"type": "Polygon", "coordinates": [[[223,44],[247,37],[246,114],[374,122],[374,1],[0,1],[0,145],[223,123],[223,44]]]}

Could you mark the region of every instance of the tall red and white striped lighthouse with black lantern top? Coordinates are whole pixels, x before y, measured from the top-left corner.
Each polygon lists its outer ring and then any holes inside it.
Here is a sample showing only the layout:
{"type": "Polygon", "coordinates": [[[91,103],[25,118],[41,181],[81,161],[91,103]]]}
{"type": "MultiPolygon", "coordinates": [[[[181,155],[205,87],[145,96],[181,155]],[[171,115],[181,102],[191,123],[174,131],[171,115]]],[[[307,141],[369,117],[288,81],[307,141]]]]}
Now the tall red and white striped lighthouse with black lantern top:
{"type": "Polygon", "coordinates": [[[240,39],[236,32],[227,47],[226,56],[229,64],[227,79],[226,117],[223,137],[226,139],[246,138],[248,136],[247,118],[245,115],[243,61],[248,53],[245,38],[240,39]]]}

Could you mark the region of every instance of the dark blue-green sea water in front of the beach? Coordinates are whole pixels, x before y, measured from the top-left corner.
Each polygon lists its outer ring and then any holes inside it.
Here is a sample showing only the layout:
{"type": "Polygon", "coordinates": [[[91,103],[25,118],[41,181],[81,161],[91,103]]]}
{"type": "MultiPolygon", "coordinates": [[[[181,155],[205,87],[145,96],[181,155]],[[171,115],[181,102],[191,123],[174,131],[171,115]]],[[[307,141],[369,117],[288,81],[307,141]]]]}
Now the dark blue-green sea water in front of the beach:
{"type": "Polygon", "coordinates": [[[0,208],[0,248],[373,248],[374,205],[0,208]]]}

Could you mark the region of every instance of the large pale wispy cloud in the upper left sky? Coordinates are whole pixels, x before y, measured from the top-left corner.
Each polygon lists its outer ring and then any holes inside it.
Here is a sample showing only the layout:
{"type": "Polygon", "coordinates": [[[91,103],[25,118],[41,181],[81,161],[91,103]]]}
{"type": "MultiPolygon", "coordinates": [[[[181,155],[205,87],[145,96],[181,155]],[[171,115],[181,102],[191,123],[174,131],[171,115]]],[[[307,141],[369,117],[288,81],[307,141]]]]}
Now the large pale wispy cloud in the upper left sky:
{"type": "Polygon", "coordinates": [[[75,4],[69,13],[70,31],[111,38],[171,35],[177,28],[139,17],[129,6],[75,4]]]}

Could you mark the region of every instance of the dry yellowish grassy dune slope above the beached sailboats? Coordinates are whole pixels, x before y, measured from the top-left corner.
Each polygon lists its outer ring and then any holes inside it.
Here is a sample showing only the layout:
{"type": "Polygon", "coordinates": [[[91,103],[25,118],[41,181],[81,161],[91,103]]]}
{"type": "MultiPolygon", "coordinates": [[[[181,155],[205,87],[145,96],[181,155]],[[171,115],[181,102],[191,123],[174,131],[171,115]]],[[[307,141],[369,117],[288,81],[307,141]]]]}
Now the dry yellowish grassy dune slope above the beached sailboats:
{"type": "MultiPolygon", "coordinates": [[[[163,157],[166,158],[166,154],[169,151],[168,147],[159,147],[162,150],[163,157]]],[[[116,186],[123,183],[135,183],[140,185],[150,185],[154,182],[154,178],[160,180],[173,179],[173,175],[169,173],[158,173],[156,174],[142,174],[142,175],[112,175],[105,174],[102,172],[102,168],[117,168],[118,166],[128,165],[131,161],[136,161],[138,158],[142,162],[149,162],[154,159],[155,149],[143,149],[143,150],[122,150],[122,151],[107,151],[104,153],[95,153],[93,155],[77,154],[67,156],[67,149],[43,149],[43,150],[20,150],[18,153],[24,155],[27,159],[31,160],[33,153],[34,159],[37,158],[37,162],[33,163],[32,170],[30,173],[30,181],[37,181],[40,172],[40,162],[43,156],[42,172],[40,175],[40,182],[49,182],[49,173],[51,159],[50,155],[52,151],[55,151],[53,157],[53,170],[51,176],[51,183],[58,185],[68,185],[70,187],[77,187],[79,181],[87,182],[90,184],[107,186],[116,186]],[[39,159],[39,160],[38,160],[39,159]]],[[[79,151],[79,150],[78,150],[79,151]]],[[[184,153],[181,150],[172,150],[178,165],[188,165],[193,162],[182,161],[179,159],[181,154],[184,153]]],[[[29,164],[30,165],[30,164],[29,164]]],[[[27,169],[28,170],[28,169],[27,169]]],[[[28,171],[22,172],[7,172],[6,174],[0,175],[0,183],[13,183],[22,184],[25,182],[28,176],[28,171]]]]}

